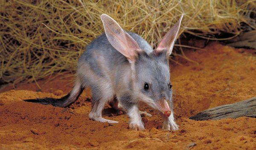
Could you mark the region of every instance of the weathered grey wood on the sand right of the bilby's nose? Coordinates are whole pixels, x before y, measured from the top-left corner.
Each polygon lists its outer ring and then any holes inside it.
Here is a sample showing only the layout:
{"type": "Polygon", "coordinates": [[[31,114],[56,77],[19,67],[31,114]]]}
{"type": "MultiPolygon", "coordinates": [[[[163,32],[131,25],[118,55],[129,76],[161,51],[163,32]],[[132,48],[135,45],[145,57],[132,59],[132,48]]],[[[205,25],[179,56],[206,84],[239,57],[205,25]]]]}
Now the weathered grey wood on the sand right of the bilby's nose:
{"type": "Polygon", "coordinates": [[[224,118],[238,118],[241,116],[256,117],[256,97],[233,104],[210,108],[190,117],[189,119],[218,120],[224,118]]]}

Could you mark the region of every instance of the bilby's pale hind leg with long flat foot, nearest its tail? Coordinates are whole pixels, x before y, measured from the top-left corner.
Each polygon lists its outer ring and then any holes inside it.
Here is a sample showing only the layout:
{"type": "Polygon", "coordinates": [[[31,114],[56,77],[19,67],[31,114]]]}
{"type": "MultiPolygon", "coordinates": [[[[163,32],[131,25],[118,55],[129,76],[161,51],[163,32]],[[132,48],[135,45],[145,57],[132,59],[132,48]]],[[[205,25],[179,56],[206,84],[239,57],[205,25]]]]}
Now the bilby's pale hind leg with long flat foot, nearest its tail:
{"type": "Polygon", "coordinates": [[[111,91],[111,87],[105,87],[106,89],[92,88],[92,101],[93,108],[89,113],[89,118],[99,122],[109,122],[109,123],[118,123],[113,120],[108,120],[102,118],[102,110],[106,103],[113,99],[113,91],[111,91]]]}

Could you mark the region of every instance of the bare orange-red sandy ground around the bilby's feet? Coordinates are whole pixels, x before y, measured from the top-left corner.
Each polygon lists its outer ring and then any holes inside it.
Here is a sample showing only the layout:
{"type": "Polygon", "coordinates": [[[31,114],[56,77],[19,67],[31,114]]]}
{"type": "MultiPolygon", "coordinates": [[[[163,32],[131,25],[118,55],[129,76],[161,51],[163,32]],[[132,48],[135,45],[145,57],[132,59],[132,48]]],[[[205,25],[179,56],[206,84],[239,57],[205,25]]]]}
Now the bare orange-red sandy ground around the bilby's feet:
{"type": "Polygon", "coordinates": [[[218,43],[206,49],[185,53],[199,64],[176,58],[182,65],[171,66],[178,131],[161,130],[161,117],[146,105],[141,110],[153,116],[143,116],[144,131],[128,129],[128,116],[108,106],[104,117],[119,123],[91,121],[89,89],[68,109],[22,101],[68,93],[73,77],[55,76],[50,82],[38,81],[41,92],[35,92],[35,83],[2,90],[7,92],[0,93],[0,150],[255,150],[255,118],[188,119],[202,110],[256,96],[256,54],[252,50],[218,43]]]}

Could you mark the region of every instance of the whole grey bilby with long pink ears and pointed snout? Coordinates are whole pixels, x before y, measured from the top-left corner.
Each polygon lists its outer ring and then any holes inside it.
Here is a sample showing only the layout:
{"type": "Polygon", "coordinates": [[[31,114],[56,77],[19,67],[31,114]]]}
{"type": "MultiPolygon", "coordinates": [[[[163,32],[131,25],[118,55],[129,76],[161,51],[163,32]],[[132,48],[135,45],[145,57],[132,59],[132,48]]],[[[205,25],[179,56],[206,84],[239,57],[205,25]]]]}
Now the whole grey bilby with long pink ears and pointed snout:
{"type": "Polygon", "coordinates": [[[44,105],[67,107],[78,99],[84,88],[92,90],[93,108],[89,118],[117,123],[102,118],[105,104],[116,96],[119,105],[130,117],[129,127],[144,130],[138,103],[145,102],[159,111],[164,130],[178,130],[172,104],[169,55],[177,38],[180,20],[167,32],[156,49],[142,37],[123,30],[107,14],[101,15],[105,34],[86,47],[81,55],[73,90],[60,99],[28,99],[44,105]]]}

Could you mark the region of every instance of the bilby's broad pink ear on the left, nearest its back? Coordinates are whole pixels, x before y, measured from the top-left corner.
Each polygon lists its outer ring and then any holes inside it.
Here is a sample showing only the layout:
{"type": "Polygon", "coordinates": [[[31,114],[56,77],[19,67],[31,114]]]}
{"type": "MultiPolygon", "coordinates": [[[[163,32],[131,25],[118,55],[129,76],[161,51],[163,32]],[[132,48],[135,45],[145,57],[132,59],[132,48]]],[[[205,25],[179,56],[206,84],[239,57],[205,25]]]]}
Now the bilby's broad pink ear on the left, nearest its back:
{"type": "Polygon", "coordinates": [[[134,38],[124,31],[120,25],[107,14],[102,14],[101,20],[111,45],[123,54],[129,62],[135,62],[138,52],[142,50],[134,38]]]}

